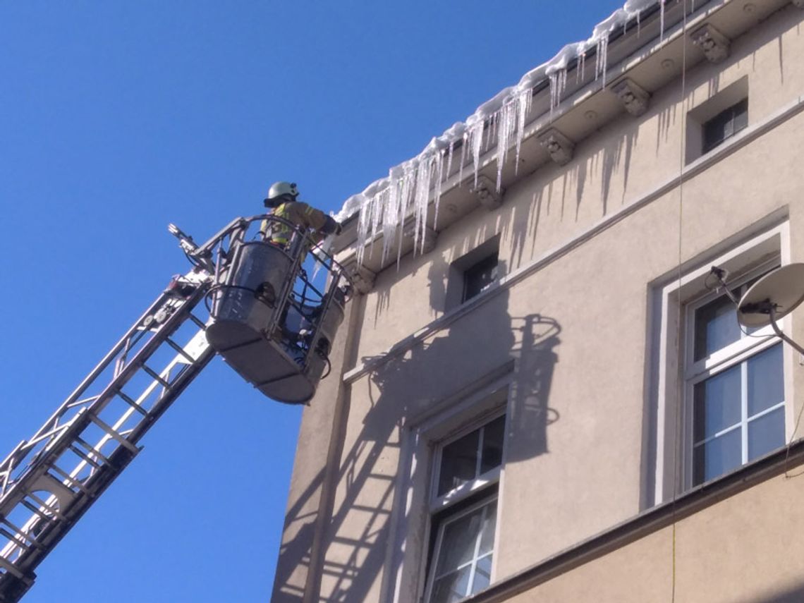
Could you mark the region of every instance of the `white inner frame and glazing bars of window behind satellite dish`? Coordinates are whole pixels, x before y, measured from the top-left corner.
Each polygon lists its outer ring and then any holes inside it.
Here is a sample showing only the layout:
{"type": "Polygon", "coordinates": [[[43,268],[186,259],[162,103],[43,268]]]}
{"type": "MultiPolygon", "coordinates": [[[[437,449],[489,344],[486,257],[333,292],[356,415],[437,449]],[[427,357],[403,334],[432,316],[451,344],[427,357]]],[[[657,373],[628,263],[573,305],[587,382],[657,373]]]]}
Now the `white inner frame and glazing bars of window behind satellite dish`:
{"type": "MultiPolygon", "coordinates": [[[[777,268],[780,264],[779,257],[770,257],[763,261],[760,265],[749,269],[748,271],[739,274],[736,278],[730,278],[728,283],[729,289],[742,288],[745,283],[754,278],[761,277],[765,273],[777,268]]],[[[737,295],[738,299],[740,295],[737,295]]],[[[701,384],[707,379],[716,375],[720,375],[728,371],[732,367],[740,367],[745,361],[754,356],[761,354],[765,350],[781,343],[781,339],[773,332],[773,327],[770,325],[763,326],[751,334],[745,333],[740,328],[740,339],[736,342],[727,344],[720,347],[713,354],[708,355],[702,359],[695,360],[695,310],[706,306],[709,302],[715,301],[719,297],[724,296],[723,291],[712,291],[704,293],[696,298],[691,299],[684,303],[684,318],[683,318],[683,489],[690,490],[699,484],[695,484],[695,385],[701,384]]],[[[788,371],[784,367],[784,352],[782,353],[782,370],[783,375],[788,371]]],[[[742,371],[742,369],[741,369],[742,371]]],[[[741,376],[742,379],[742,376],[741,376]]],[[[771,408],[765,408],[763,411],[753,416],[746,414],[747,408],[745,384],[740,384],[740,422],[732,425],[731,429],[740,429],[740,466],[745,466],[750,462],[748,459],[748,430],[744,428],[745,425],[751,420],[756,419],[758,416],[763,416],[765,413],[772,412],[780,405],[786,407],[790,400],[789,392],[785,388],[785,397],[781,404],[776,404],[771,408]]],[[[785,420],[785,438],[789,430],[789,420],[785,420]]],[[[728,473],[728,472],[727,472],[728,473]]],[[[720,476],[717,476],[720,477],[720,476]]],[[[713,478],[716,479],[716,478],[713,478]]],[[[704,482],[701,483],[705,483],[704,482]]]]}

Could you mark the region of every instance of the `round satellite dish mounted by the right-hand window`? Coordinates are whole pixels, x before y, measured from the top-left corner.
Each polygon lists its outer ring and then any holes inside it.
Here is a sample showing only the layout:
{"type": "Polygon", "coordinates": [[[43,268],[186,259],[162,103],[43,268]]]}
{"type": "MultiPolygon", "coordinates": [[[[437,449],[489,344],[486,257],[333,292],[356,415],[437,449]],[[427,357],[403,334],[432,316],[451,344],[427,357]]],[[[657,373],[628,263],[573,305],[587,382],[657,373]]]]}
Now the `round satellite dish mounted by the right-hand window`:
{"type": "Polygon", "coordinates": [[[788,264],[765,274],[751,285],[737,306],[742,326],[773,325],[804,301],[804,264],[788,264]]]}

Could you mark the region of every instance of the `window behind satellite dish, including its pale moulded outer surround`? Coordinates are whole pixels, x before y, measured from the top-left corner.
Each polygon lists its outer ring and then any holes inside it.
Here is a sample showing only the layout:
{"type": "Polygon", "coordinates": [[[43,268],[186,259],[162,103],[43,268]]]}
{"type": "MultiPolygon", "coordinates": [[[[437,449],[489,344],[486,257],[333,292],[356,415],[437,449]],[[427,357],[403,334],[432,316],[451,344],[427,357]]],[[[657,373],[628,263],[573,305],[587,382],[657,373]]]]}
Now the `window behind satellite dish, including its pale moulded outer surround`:
{"type": "MultiPolygon", "coordinates": [[[[680,278],[654,283],[650,303],[651,424],[643,508],[708,482],[786,443],[793,425],[793,356],[773,328],[742,330],[712,276],[728,271],[740,297],[790,262],[786,211],[705,252],[680,278]]],[[[790,317],[778,322],[790,330],[790,317]]]]}

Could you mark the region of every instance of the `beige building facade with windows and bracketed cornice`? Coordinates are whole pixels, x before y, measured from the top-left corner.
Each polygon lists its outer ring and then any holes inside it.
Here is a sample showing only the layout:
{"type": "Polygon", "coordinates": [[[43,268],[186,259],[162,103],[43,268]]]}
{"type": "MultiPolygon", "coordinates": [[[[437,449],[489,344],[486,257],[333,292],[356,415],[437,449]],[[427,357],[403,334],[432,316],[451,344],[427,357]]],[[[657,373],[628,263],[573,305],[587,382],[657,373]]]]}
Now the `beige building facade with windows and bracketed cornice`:
{"type": "Polygon", "coordinates": [[[804,261],[802,55],[804,2],[657,3],[424,248],[347,220],[273,601],[804,601],[804,360],[712,271],[804,261]]]}

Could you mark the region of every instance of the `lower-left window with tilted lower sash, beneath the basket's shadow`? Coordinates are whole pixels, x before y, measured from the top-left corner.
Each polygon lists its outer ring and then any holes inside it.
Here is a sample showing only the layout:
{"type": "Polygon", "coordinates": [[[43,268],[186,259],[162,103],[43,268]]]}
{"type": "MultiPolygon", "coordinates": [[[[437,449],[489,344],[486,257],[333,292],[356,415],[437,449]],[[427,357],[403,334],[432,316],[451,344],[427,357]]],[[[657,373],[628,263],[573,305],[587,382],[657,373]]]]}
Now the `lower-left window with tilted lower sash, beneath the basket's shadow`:
{"type": "Polygon", "coordinates": [[[504,440],[502,415],[437,447],[429,603],[460,601],[490,585],[504,440]]]}

